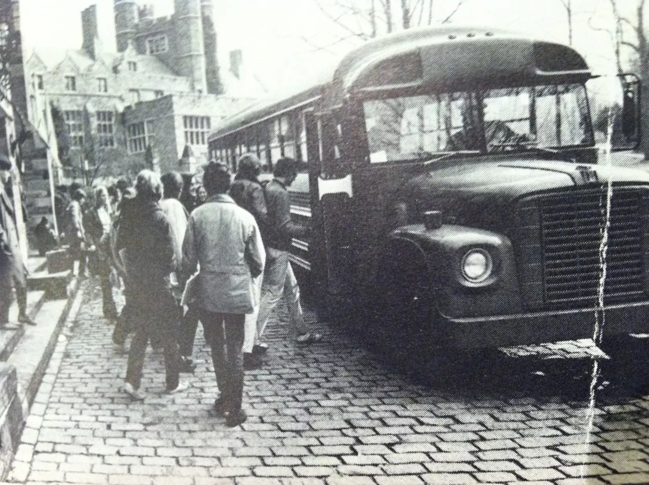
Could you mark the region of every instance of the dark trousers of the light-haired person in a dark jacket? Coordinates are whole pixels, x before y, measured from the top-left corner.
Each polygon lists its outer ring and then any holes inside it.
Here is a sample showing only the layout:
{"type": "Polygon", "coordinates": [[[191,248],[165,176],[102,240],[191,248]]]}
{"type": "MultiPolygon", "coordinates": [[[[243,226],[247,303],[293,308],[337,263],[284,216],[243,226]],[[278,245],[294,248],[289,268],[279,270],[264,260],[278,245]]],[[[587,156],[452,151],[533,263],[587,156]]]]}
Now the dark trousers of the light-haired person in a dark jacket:
{"type": "Polygon", "coordinates": [[[156,319],[152,317],[138,317],[135,335],[130,342],[129,364],[126,371],[126,381],[135,389],[140,388],[142,367],[147,343],[152,335],[158,334],[164,346],[164,367],[166,373],[167,390],[178,387],[178,373],[180,354],[178,342],[173,329],[173,319],[156,319]]]}

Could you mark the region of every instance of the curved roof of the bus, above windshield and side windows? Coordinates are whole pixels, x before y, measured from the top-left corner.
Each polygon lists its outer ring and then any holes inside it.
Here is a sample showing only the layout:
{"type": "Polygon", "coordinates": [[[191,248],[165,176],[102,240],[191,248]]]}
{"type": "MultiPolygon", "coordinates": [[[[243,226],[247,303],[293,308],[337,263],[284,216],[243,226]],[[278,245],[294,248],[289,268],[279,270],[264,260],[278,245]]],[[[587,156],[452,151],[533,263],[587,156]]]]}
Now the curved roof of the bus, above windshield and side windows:
{"type": "Polygon", "coordinates": [[[308,105],[326,96],[325,108],[339,105],[352,92],[438,86],[458,88],[500,83],[585,80],[582,56],[571,47],[535,40],[520,32],[489,27],[426,27],[389,34],[352,49],[293,92],[261,100],[226,119],[209,141],[308,105]]]}

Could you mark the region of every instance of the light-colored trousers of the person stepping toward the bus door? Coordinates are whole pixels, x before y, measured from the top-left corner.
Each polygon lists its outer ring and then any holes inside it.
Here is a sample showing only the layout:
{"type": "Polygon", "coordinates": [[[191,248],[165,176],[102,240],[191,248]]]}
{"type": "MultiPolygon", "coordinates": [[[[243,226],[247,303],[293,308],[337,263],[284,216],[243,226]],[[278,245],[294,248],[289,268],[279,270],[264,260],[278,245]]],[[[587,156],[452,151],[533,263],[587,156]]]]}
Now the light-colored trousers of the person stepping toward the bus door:
{"type": "Polygon", "coordinates": [[[282,295],[288,305],[289,324],[297,335],[306,334],[309,330],[304,323],[304,314],[300,305],[300,287],[297,286],[293,268],[288,260],[288,251],[267,248],[266,268],[263,273],[262,303],[257,318],[257,335],[262,338],[266,323],[279,303],[282,295]]]}

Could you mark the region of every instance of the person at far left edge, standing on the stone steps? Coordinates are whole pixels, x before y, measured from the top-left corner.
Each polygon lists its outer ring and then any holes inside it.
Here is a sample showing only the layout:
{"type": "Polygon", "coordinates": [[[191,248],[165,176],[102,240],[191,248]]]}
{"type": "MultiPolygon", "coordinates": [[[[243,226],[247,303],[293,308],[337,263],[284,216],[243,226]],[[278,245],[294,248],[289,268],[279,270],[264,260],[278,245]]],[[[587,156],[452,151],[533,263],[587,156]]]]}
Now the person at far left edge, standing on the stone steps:
{"type": "Polygon", "coordinates": [[[36,325],[27,314],[27,267],[20,255],[16,212],[5,190],[10,180],[11,163],[0,157],[0,330],[16,330],[9,322],[12,287],[18,300],[18,322],[36,325]]]}

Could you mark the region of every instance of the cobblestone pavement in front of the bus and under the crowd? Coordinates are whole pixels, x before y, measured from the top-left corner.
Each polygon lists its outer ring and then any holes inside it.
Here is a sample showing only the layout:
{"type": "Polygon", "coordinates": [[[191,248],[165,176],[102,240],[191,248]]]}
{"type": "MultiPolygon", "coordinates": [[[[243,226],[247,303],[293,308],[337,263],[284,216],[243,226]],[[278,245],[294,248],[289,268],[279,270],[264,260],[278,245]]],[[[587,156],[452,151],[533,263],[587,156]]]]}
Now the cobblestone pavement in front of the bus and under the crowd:
{"type": "Polygon", "coordinates": [[[249,420],[228,429],[208,416],[217,388],[202,336],[191,388],[164,395],[162,355],[148,351],[150,397],[135,403],[119,391],[126,356],[112,351],[97,286],[85,286],[83,298],[36,396],[11,481],[649,482],[649,399],[611,385],[606,402],[589,406],[588,379],[578,379],[574,360],[555,360],[562,370],[552,375],[522,371],[508,357],[480,379],[425,384],[323,323],[324,342],[296,347],[280,310],[269,329],[269,364],[246,375],[249,420]]]}

